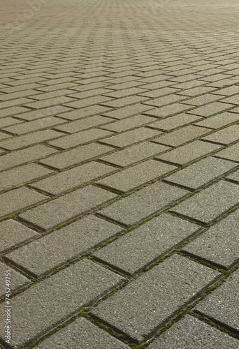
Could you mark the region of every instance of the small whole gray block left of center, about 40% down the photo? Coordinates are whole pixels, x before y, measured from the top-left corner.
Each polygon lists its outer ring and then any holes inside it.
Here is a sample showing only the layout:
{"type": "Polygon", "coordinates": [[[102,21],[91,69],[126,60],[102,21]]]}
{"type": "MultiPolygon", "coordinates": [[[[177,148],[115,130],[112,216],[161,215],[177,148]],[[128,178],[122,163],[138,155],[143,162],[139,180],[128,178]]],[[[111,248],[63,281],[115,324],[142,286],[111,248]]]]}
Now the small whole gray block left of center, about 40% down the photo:
{"type": "Polygon", "coordinates": [[[52,140],[51,142],[48,142],[48,144],[52,145],[53,147],[68,149],[77,145],[92,142],[93,140],[99,140],[112,134],[112,132],[99,130],[98,128],[91,128],[87,131],[80,131],[73,133],[72,135],[66,135],[57,140],[52,140]]]}

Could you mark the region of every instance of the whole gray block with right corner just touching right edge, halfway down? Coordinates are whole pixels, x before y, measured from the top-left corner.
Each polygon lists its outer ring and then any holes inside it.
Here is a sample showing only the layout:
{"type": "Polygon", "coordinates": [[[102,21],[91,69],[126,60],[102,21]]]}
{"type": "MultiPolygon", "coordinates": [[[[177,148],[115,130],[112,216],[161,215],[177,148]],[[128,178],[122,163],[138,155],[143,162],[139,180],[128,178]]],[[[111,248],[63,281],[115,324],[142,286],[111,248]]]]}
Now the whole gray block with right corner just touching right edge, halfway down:
{"type": "Polygon", "coordinates": [[[208,156],[177,173],[166,178],[166,181],[180,184],[189,189],[202,188],[227,172],[236,168],[238,164],[220,158],[208,156]]]}

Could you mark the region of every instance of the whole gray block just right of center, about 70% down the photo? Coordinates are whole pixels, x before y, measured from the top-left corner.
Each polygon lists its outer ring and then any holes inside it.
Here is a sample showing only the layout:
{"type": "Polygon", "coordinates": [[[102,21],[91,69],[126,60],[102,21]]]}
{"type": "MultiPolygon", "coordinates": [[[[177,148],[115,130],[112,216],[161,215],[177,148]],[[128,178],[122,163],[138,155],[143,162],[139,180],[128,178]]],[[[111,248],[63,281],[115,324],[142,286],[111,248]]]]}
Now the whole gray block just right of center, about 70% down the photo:
{"type": "Polygon", "coordinates": [[[198,232],[197,225],[161,214],[93,253],[97,260],[134,275],[198,232]]]}

